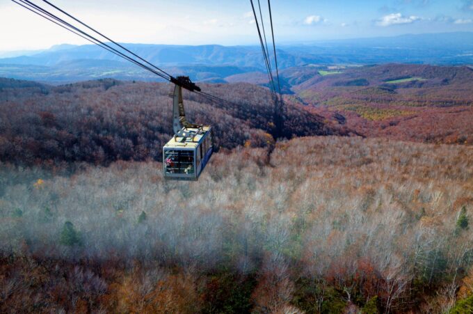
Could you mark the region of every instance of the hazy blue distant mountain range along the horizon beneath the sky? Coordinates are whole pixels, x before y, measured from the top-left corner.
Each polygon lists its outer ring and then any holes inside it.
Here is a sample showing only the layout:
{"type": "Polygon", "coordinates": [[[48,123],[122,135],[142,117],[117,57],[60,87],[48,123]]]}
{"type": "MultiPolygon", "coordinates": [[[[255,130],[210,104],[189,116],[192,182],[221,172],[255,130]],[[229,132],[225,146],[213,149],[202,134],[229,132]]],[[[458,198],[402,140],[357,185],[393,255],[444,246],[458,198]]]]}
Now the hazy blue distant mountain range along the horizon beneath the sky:
{"type": "MultiPolygon", "coordinates": [[[[238,74],[264,72],[261,49],[257,46],[124,45],[172,74],[187,74],[197,81],[225,82],[226,77],[234,81],[238,74]]],[[[280,45],[278,63],[281,70],[303,65],[473,64],[473,32],[280,45]]],[[[22,56],[0,58],[0,77],[52,84],[104,77],[157,80],[153,74],[95,45],[58,45],[38,52],[24,52],[22,56]]]]}

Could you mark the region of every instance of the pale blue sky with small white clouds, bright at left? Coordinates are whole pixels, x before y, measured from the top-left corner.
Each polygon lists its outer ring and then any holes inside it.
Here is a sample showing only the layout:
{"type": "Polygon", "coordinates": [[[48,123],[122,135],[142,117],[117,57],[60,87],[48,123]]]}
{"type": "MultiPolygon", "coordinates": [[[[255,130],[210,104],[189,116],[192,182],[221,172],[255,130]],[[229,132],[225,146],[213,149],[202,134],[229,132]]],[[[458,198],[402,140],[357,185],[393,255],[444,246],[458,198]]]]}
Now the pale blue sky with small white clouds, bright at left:
{"type": "MultiPolygon", "coordinates": [[[[260,1],[268,28],[268,3],[260,1]]],[[[51,2],[119,42],[254,45],[259,40],[249,0],[51,2]]],[[[271,9],[280,45],[473,31],[473,0],[272,0],[271,9]]],[[[0,30],[0,52],[88,43],[9,0],[0,0],[0,30]]]]}

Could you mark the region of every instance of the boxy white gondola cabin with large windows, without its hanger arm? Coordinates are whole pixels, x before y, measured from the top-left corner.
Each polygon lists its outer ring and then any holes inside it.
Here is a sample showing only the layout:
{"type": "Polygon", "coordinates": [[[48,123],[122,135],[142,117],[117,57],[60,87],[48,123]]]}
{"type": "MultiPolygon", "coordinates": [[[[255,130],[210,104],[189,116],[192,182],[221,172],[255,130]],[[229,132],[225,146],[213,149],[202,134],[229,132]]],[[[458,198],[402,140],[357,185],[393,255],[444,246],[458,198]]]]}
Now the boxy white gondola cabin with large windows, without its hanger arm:
{"type": "Polygon", "coordinates": [[[198,180],[213,152],[212,129],[183,128],[163,148],[163,175],[168,180],[198,180]]]}

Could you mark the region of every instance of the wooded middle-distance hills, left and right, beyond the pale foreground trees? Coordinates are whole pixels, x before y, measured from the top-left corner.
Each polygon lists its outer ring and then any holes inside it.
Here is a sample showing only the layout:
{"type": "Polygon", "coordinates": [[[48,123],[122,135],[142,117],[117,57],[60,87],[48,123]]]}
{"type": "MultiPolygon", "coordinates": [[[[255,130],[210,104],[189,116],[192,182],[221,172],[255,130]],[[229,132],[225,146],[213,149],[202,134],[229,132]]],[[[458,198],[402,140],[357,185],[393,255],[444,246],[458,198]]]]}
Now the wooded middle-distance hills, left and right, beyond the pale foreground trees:
{"type": "MultiPolygon", "coordinates": [[[[270,93],[255,85],[264,86],[264,79],[255,73],[233,77],[232,84],[201,84],[237,106],[184,93],[187,114],[214,126],[218,149],[264,147],[274,138],[310,135],[473,143],[473,70],[468,67],[306,66],[284,69],[281,77],[286,104],[281,129],[275,127],[270,93]]],[[[171,89],[114,79],[61,86],[0,79],[0,161],[159,161],[161,147],[173,135],[171,89]]]]}

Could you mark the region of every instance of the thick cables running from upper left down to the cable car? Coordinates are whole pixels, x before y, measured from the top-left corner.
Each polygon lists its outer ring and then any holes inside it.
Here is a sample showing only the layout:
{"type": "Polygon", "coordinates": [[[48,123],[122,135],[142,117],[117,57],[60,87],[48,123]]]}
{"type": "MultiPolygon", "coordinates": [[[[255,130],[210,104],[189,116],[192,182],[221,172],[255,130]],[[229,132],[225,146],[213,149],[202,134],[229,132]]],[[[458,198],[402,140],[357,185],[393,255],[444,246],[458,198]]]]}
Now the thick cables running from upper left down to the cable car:
{"type": "Polygon", "coordinates": [[[55,6],[53,3],[47,1],[47,0],[42,0],[45,3],[47,3],[49,6],[52,8],[58,10],[59,12],[63,13],[63,15],[66,15],[70,19],[73,19],[75,22],[78,22],[82,26],[85,26],[87,29],[90,31],[93,31],[96,33],[99,37],[104,38],[105,40],[109,40],[109,43],[104,42],[104,40],[97,38],[96,36],[91,36],[89,33],[86,31],[83,31],[83,29],[80,29],[79,26],[74,26],[70,22],[65,21],[65,19],[62,19],[61,17],[58,17],[57,15],[49,12],[45,8],[42,8],[41,6],[38,6],[38,4],[35,4],[29,0],[12,0],[14,3],[18,4],[19,6],[22,6],[23,8],[26,8],[27,10],[30,10],[31,12],[35,13],[36,15],[39,15],[40,17],[43,17],[49,22],[52,22],[58,26],[61,26],[63,29],[66,29],[67,31],[70,31],[71,33],[74,33],[77,36],[80,36],[81,38],[84,38],[88,40],[89,42],[92,42],[95,45],[98,45],[99,47],[102,47],[103,49],[106,49],[108,52],[111,52],[112,54],[115,54],[116,56],[119,56],[120,58],[123,58],[131,63],[134,63],[135,65],[138,65],[139,67],[143,68],[144,70],[150,71],[153,74],[156,74],[157,76],[161,77],[162,79],[165,79],[166,81],[170,81],[174,84],[177,84],[179,86],[182,86],[183,88],[188,89],[191,92],[197,93],[198,95],[202,95],[203,97],[206,97],[209,100],[213,100],[215,102],[222,102],[227,105],[232,105],[238,107],[239,105],[230,102],[228,100],[224,100],[221,97],[217,97],[214,95],[211,95],[209,93],[205,93],[200,91],[200,88],[198,86],[195,86],[195,84],[183,84],[182,80],[179,78],[175,78],[172,75],[168,74],[168,72],[162,70],[161,68],[158,68],[156,65],[150,63],[149,61],[146,61],[144,58],[141,58],[141,56],[138,56],[138,54],[135,54],[134,52],[131,52],[129,49],[124,47],[123,45],[120,45],[118,42],[115,42],[114,40],[111,40],[111,38],[105,36],[104,34],[100,33],[96,29],[93,29],[91,26],[88,26],[88,24],[81,22],[80,19],[77,19],[76,17],[70,15],[69,13],[65,12],[61,8],[58,8],[55,6]],[[113,47],[112,45],[115,45],[113,47]],[[121,49],[121,51],[120,51],[121,49]],[[138,58],[138,59],[137,59],[138,58]],[[143,62],[141,62],[143,61],[143,62]]]}

